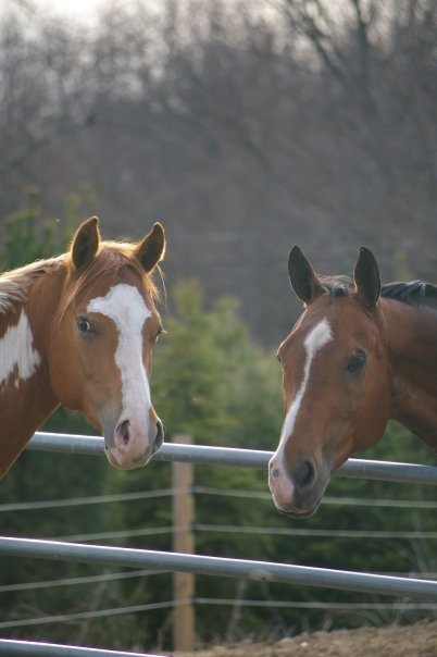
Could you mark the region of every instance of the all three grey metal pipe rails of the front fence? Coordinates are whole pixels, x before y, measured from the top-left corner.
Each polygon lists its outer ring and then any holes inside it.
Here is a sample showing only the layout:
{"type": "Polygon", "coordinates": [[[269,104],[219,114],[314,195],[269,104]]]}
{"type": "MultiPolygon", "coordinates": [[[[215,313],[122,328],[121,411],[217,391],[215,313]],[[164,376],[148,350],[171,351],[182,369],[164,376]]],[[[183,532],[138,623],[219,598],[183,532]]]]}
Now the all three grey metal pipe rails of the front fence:
{"type": "MultiPolygon", "coordinates": [[[[100,437],[38,433],[30,441],[28,448],[70,454],[100,455],[104,450],[104,445],[103,438],[100,437]]],[[[269,451],[165,444],[154,458],[167,461],[265,468],[272,454],[269,451]]],[[[337,470],[337,474],[350,478],[437,485],[437,468],[411,463],[350,459],[337,470]]],[[[13,537],[0,537],[0,554],[128,568],[139,567],[151,570],[165,569],[177,572],[266,580],[270,582],[303,584],[305,586],[437,600],[437,582],[432,580],[345,572],[288,563],[224,559],[182,553],[13,537]]],[[[99,654],[112,657],[124,657],[127,655],[136,657],[133,653],[96,652],[91,648],[72,646],[53,645],[49,650],[47,644],[11,642],[9,640],[0,640],[1,654],[68,655],[72,657],[76,657],[76,655],[77,657],[86,657],[86,655],[99,654]]],[[[141,657],[147,656],[142,655],[141,657]]]]}

